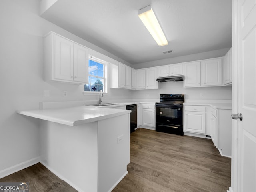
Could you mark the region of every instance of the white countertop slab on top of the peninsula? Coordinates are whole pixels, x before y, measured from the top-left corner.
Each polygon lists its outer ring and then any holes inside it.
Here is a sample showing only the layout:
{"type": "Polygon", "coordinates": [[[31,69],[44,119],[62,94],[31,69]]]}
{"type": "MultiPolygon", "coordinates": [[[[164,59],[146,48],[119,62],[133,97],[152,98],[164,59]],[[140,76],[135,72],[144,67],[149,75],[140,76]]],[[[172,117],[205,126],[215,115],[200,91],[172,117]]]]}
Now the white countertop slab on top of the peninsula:
{"type": "MultiPolygon", "coordinates": [[[[125,105],[125,104],[123,104],[125,105]]],[[[121,106],[121,105],[115,105],[121,106]]],[[[48,120],[69,126],[90,123],[98,120],[129,114],[131,110],[111,109],[99,106],[76,106],[43,110],[18,110],[19,114],[48,120]]]]}

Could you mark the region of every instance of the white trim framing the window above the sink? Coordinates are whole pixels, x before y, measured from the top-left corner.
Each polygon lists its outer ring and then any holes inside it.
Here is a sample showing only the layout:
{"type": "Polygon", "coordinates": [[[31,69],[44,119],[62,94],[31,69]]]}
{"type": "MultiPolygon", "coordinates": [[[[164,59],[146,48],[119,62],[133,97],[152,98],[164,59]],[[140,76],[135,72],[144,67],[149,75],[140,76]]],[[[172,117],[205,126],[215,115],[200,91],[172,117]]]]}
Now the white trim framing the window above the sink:
{"type": "MultiPolygon", "coordinates": [[[[93,60],[95,62],[99,62],[100,64],[104,65],[104,86],[105,86],[105,90],[108,90],[108,80],[107,80],[107,74],[108,74],[108,70],[107,70],[107,66],[108,66],[108,62],[101,60],[99,58],[96,58],[92,55],[89,55],[89,60],[93,60]]],[[[83,87],[83,94],[84,96],[88,96],[88,95],[99,95],[99,92],[94,92],[94,91],[84,91],[84,87],[83,87]]],[[[108,95],[108,92],[103,92],[104,95],[108,95]]]]}

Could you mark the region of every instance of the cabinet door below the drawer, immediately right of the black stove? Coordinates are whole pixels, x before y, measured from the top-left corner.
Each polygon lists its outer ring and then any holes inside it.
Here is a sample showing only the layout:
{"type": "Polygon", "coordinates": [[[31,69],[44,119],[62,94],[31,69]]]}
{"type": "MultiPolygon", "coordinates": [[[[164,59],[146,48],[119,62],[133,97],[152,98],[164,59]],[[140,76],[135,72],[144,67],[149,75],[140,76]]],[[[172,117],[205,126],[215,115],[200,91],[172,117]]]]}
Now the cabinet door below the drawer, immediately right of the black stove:
{"type": "Polygon", "coordinates": [[[184,131],[205,134],[205,113],[185,111],[184,131]]]}

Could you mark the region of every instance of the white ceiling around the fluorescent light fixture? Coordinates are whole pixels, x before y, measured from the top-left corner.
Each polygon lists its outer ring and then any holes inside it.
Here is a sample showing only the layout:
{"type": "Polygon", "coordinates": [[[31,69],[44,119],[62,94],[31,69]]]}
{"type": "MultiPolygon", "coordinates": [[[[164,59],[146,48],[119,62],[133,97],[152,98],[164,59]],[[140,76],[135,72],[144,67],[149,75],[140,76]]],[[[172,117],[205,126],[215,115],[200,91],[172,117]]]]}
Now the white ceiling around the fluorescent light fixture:
{"type": "Polygon", "coordinates": [[[41,16],[130,64],[230,48],[231,0],[58,0],[41,16]],[[169,42],[138,17],[151,5],[169,42]],[[173,53],[163,54],[173,50],[173,53]]]}

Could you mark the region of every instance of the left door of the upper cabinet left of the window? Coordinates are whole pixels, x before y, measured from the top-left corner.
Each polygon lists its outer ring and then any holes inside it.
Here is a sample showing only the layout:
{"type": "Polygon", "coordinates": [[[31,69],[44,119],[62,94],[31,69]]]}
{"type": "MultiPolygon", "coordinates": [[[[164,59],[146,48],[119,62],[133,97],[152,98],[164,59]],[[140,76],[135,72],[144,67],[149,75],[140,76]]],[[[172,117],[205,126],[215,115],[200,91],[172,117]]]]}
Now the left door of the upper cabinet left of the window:
{"type": "Polygon", "coordinates": [[[54,78],[73,81],[74,43],[54,35],[54,78]]]}

